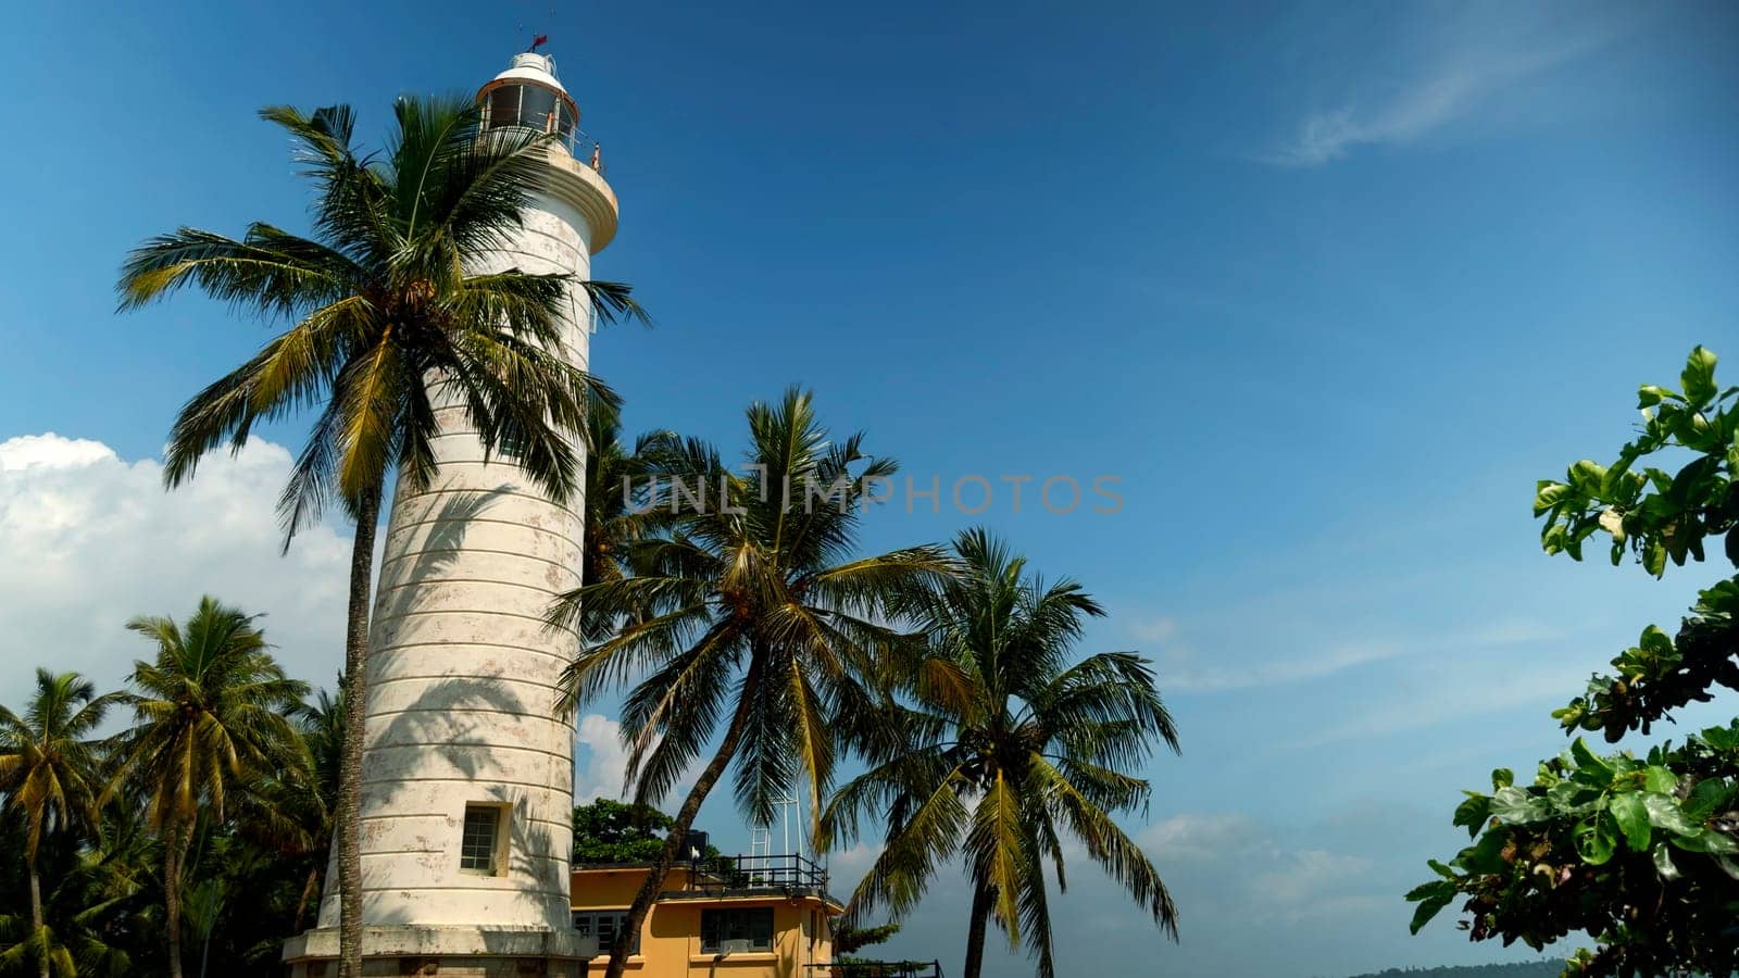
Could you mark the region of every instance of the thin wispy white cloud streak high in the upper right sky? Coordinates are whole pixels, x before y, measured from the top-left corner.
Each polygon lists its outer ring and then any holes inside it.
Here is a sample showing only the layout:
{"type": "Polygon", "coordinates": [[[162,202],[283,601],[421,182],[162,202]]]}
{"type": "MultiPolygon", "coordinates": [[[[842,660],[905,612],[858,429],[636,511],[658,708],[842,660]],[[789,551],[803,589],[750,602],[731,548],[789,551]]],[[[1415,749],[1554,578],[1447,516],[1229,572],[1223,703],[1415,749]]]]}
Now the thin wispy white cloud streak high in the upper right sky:
{"type": "MultiPolygon", "coordinates": [[[[1482,110],[1506,103],[1553,71],[1582,59],[1617,38],[1624,17],[1589,17],[1582,9],[1558,14],[1546,7],[1504,9],[1501,17],[1478,23],[1431,24],[1419,31],[1431,38],[1426,50],[1383,50],[1407,61],[1386,73],[1370,66],[1344,97],[1309,111],[1294,132],[1263,158],[1287,167],[1315,167],[1339,160],[1358,146],[1405,146],[1482,110]]],[[[1396,38],[1396,47],[1407,45],[1396,38]]]]}

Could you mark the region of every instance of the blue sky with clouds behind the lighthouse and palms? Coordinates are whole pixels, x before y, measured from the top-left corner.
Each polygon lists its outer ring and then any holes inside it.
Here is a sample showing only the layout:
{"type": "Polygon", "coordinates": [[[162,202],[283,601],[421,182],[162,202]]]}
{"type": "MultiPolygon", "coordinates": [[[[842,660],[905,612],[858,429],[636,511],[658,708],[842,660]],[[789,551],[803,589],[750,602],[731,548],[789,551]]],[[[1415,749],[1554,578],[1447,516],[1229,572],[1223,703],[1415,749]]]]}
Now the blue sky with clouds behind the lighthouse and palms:
{"type": "MultiPolygon", "coordinates": [[[[1629,392],[1692,345],[1739,362],[1730,5],[12,10],[7,701],[35,661],[118,677],[118,621],[200,590],[242,592],[330,675],[311,621],[339,613],[343,546],[275,557],[282,452],[198,503],[155,489],[174,409],[261,329],[193,299],[117,317],[115,271],[177,224],[301,221],[259,106],[350,101],[381,132],[393,96],[471,90],[532,28],[623,200],[595,271],[659,320],[595,338],[630,426],[734,445],[748,400],[810,385],[944,486],[866,546],[991,522],[1109,606],[1087,647],[1158,661],[1184,755],[1132,828],[1184,941],[1083,865],[1064,975],[1501,957],[1447,924],[1409,938],[1400,893],[1457,846],[1457,790],[1558,750],[1548,710],[1709,576],[1546,559],[1529,501],[1614,454],[1629,392]],[[967,475],[998,487],[981,517],[948,505],[967,475]],[[1125,506],[1012,513],[1002,475],[1115,475],[1125,506]]],[[[704,820],[743,834],[723,800],[704,820]]],[[[958,968],[963,907],[946,881],[890,950],[958,968]]]]}

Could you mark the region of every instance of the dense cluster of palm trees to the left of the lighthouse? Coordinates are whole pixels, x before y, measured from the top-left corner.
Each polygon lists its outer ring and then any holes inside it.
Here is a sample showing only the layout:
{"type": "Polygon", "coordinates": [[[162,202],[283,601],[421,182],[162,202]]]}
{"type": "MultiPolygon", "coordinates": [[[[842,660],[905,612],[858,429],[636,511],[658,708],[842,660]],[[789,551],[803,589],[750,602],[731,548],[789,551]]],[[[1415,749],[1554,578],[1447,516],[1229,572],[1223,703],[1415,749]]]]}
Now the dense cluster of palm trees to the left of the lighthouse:
{"type": "Polygon", "coordinates": [[[313,919],[332,837],[343,707],[310,698],[257,618],[205,597],[122,691],[37,670],[0,707],[0,973],[64,978],[275,968],[313,919]],[[127,717],[97,736],[110,715],[127,717]]]}

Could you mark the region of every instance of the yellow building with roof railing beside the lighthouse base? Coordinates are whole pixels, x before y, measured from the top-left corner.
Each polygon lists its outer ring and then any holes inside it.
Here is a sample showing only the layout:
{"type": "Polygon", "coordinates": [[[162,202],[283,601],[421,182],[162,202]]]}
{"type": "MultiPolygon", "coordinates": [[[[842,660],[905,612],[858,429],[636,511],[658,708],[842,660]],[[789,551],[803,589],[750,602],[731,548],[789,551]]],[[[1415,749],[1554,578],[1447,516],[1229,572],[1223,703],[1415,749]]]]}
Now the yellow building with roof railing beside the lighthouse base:
{"type": "MultiPolygon", "coordinates": [[[[574,929],[598,938],[602,975],[645,865],[576,865],[574,929]]],[[[678,863],[640,928],[628,975],[638,978],[831,978],[833,924],[845,907],[803,856],[723,856],[678,863]]]]}

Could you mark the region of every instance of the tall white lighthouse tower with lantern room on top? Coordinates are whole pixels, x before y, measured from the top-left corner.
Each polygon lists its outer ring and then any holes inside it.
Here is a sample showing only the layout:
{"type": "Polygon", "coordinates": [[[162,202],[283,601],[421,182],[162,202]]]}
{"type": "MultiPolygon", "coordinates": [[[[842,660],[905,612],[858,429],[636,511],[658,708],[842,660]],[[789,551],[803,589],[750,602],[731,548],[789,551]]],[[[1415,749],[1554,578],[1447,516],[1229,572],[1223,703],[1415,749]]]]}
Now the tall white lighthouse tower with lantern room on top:
{"type": "MultiPolygon", "coordinates": [[[[616,233],[616,193],[555,61],[518,54],[476,99],[485,129],[555,139],[523,228],[471,265],[590,278],[616,233]]],[[[590,322],[576,285],[565,352],[577,367],[590,322]]],[[[393,499],[374,606],[363,973],[577,976],[596,945],[570,926],[574,724],[553,707],[579,640],[543,616],[579,585],[583,503],[548,499],[511,454],[485,461],[461,409],[443,407],[440,425],[435,482],[400,484],[393,499]]],[[[285,945],[294,978],[337,975],[337,924],[329,874],[318,929],[285,945]]]]}

